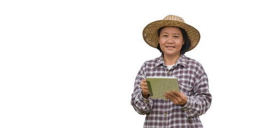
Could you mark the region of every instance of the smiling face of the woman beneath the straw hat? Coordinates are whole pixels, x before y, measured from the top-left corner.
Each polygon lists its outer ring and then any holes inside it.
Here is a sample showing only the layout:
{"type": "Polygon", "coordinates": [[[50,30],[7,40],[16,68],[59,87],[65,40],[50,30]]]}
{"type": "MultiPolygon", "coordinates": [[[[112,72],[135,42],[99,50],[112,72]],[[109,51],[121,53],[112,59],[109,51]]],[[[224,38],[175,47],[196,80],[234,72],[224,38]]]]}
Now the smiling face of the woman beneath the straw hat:
{"type": "Polygon", "coordinates": [[[158,37],[158,41],[164,55],[175,57],[180,55],[183,41],[181,30],[177,27],[164,27],[158,37]]]}

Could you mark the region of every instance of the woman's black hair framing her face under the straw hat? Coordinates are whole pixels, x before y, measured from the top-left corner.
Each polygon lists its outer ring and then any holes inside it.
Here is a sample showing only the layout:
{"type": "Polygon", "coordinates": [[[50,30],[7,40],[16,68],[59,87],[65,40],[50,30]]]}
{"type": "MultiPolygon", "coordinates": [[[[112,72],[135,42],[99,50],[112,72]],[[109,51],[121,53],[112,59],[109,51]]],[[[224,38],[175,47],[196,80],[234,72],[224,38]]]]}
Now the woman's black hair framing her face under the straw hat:
{"type": "MultiPolygon", "coordinates": [[[[160,36],[161,30],[162,30],[163,28],[164,28],[164,27],[159,28],[159,29],[157,30],[158,37],[160,36]]],[[[185,31],[183,28],[179,28],[179,29],[180,29],[181,34],[182,34],[182,36],[183,36],[183,41],[185,41],[185,44],[183,44],[182,47],[181,47],[181,49],[180,49],[180,54],[185,54],[185,53],[189,50],[189,48],[191,47],[191,42],[190,42],[190,40],[189,40],[189,38],[188,38],[188,35],[187,35],[186,31],[185,31]]],[[[157,48],[161,53],[163,52],[163,51],[161,50],[161,47],[160,47],[160,44],[159,44],[159,43],[158,43],[158,45],[157,45],[156,48],[157,48]]]]}

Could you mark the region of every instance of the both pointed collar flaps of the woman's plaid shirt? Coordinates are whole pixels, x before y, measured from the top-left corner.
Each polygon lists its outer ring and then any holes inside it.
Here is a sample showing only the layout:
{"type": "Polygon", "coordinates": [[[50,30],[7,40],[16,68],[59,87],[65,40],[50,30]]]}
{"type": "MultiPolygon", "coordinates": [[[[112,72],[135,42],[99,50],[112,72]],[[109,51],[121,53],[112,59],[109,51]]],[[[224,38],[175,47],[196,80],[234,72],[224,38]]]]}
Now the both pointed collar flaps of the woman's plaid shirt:
{"type": "MultiPolygon", "coordinates": [[[[186,66],[187,66],[187,59],[186,58],[187,57],[185,55],[181,54],[180,58],[177,60],[177,62],[175,63],[174,66],[181,65],[181,66],[186,68],[186,66]]],[[[161,64],[166,66],[165,63],[164,63],[163,53],[161,54],[161,57],[159,57],[157,59],[157,61],[155,63],[155,67],[157,67],[157,66],[159,66],[161,64]]]]}

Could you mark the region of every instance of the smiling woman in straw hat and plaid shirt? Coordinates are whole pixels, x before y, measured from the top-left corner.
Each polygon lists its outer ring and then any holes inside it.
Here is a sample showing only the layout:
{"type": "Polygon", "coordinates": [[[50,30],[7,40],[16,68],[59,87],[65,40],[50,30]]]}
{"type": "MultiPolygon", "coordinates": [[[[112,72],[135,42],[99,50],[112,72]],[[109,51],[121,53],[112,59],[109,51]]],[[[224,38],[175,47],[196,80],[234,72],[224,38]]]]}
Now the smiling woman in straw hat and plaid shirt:
{"type": "Polygon", "coordinates": [[[146,61],[135,79],[131,105],[139,114],[146,114],[144,127],[203,127],[199,116],[212,101],[208,78],[199,62],[184,55],[198,44],[199,31],[182,18],[167,15],[149,23],[143,38],[162,53],[146,61]],[[165,99],[150,98],[146,79],[141,76],[177,77],[180,92],[166,91],[165,99]]]}

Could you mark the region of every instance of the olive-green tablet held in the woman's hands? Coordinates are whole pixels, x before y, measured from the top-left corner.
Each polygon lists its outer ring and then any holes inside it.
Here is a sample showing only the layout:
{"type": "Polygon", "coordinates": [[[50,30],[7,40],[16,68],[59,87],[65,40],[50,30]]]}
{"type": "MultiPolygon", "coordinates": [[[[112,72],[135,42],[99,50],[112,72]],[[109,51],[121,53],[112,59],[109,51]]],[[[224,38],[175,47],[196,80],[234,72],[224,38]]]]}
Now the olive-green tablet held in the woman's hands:
{"type": "Polygon", "coordinates": [[[153,99],[165,99],[167,91],[179,90],[177,77],[146,77],[149,95],[153,99]]]}

